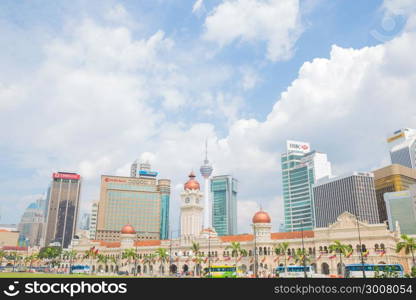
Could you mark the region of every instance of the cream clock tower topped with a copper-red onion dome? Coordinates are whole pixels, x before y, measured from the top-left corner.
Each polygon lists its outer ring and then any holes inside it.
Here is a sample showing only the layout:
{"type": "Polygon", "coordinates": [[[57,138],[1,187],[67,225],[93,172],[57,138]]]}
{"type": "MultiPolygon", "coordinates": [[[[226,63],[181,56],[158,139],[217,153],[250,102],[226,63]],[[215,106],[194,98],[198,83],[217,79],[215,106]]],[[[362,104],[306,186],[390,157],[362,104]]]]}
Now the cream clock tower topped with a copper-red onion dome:
{"type": "Polygon", "coordinates": [[[203,194],[195,174],[189,174],[189,180],[181,193],[181,236],[190,238],[198,236],[202,231],[204,219],[203,194]]]}

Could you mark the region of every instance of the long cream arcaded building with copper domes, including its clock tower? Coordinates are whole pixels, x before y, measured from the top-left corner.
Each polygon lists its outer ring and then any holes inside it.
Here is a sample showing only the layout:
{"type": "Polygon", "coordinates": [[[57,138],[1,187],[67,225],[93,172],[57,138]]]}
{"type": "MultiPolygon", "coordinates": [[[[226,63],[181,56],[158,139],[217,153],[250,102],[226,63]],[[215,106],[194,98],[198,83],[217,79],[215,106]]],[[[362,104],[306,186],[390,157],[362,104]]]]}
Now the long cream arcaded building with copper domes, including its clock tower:
{"type": "MultiPolygon", "coordinates": [[[[354,249],[349,257],[343,257],[345,264],[360,263],[357,224],[362,241],[364,260],[366,263],[399,263],[409,271],[411,256],[396,253],[396,244],[400,241],[400,228],[391,232],[386,224],[368,224],[359,222],[354,215],[345,212],[337,221],[327,228],[318,228],[304,232],[271,232],[270,216],[265,211],[257,212],[252,218],[252,234],[218,236],[211,228],[203,229],[203,194],[200,185],[191,173],[181,193],[181,234],[172,240],[139,240],[138,234],[131,225],[120,229],[120,238],[116,242],[89,240],[81,238],[73,240],[71,245],[77,253],[73,264],[91,264],[94,272],[114,273],[128,271],[139,275],[168,275],[171,273],[198,273],[209,263],[211,265],[237,265],[247,274],[253,274],[257,261],[259,276],[273,274],[273,269],[284,264],[284,255],[277,255],[274,248],[282,242],[289,243],[286,259],[288,265],[295,262],[294,253],[304,248],[308,253],[309,264],[315,266],[321,274],[339,274],[339,256],[329,252],[329,245],[334,241],[351,245],[354,249]],[[227,246],[232,242],[240,243],[247,251],[246,256],[233,255],[227,246]],[[199,245],[198,256],[191,250],[192,244],[199,245]],[[162,262],[157,257],[149,261],[146,256],[155,254],[158,248],[164,248],[170,254],[168,261],[162,262]],[[257,255],[254,255],[254,249],[257,255]],[[84,259],[88,250],[93,249],[109,258],[106,264],[97,259],[84,259]],[[126,249],[135,249],[138,253],[136,262],[122,258],[126,249]],[[197,258],[199,257],[199,258],[197,258]],[[208,258],[209,257],[209,258],[208,258]],[[169,268],[170,265],[170,268],[169,268]],[[136,272],[134,272],[136,270],[136,272]]],[[[68,267],[64,262],[62,267],[68,267]]]]}

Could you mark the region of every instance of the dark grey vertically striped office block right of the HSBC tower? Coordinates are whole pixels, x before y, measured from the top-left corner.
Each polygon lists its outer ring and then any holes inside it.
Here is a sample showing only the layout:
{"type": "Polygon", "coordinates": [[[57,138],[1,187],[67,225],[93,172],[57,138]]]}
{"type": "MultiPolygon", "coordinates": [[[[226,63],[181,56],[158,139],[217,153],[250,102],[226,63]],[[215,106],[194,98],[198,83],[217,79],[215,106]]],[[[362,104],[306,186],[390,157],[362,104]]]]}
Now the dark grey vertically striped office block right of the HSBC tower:
{"type": "Polygon", "coordinates": [[[354,172],[352,175],[325,178],[313,186],[316,227],[328,227],[343,212],[359,220],[379,223],[373,173],[354,172]]]}

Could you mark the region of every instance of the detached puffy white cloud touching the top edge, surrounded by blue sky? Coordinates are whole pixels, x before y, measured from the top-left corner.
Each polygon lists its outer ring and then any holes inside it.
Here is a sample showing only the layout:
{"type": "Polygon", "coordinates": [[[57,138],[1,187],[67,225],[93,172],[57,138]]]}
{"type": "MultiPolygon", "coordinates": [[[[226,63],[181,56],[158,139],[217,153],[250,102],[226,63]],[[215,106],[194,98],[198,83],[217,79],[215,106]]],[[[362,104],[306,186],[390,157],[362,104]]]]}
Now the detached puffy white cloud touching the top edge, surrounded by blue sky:
{"type": "Polygon", "coordinates": [[[267,43],[267,58],[287,60],[302,28],[298,0],[224,0],[205,19],[204,38],[267,43]]]}

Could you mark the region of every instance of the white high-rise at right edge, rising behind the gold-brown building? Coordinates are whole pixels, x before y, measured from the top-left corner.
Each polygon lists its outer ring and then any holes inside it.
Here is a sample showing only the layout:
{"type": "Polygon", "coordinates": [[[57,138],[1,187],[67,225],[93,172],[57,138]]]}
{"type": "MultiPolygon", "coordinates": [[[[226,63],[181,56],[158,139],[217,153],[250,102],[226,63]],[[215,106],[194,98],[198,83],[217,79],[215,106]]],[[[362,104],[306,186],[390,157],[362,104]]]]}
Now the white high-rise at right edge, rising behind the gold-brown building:
{"type": "Polygon", "coordinates": [[[387,139],[392,164],[416,168],[416,130],[403,128],[387,139]]]}

